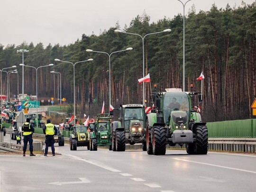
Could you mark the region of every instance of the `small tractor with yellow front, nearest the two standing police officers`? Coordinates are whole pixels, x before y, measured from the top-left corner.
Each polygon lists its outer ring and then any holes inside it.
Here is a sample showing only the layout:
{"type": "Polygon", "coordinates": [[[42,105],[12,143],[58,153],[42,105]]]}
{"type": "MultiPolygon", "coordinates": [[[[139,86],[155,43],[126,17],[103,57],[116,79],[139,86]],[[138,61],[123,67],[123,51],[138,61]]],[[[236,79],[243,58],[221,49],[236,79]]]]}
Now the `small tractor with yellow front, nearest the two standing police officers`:
{"type": "Polygon", "coordinates": [[[79,125],[71,127],[70,150],[77,147],[87,146],[88,150],[97,150],[97,138],[94,132],[88,130],[88,126],[79,125]]]}

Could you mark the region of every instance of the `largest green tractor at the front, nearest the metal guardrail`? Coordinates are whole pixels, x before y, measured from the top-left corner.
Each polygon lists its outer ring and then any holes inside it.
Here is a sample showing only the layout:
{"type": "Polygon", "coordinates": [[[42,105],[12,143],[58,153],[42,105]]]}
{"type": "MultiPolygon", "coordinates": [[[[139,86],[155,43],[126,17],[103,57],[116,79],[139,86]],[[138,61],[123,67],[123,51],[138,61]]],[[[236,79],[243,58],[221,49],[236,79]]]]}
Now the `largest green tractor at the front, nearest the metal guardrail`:
{"type": "MultiPolygon", "coordinates": [[[[155,87],[156,88],[156,87],[155,87]]],[[[153,92],[155,108],[146,117],[146,150],[149,155],[165,155],[166,144],[186,145],[188,154],[207,154],[208,130],[192,98],[200,92],[170,88],[153,92]]],[[[201,103],[201,94],[199,95],[201,103]]],[[[195,99],[195,98],[194,98],[195,99]]]]}

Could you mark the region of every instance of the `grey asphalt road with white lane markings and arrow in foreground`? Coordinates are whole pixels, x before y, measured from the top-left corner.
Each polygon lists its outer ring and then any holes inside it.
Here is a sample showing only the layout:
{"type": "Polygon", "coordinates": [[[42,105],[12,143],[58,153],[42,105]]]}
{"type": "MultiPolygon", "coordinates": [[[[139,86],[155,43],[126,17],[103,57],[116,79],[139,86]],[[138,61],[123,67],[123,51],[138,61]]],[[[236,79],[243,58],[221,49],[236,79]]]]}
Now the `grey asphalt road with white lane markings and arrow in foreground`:
{"type": "MultiPolygon", "coordinates": [[[[62,155],[0,156],[1,192],[253,192],[256,156],[57,146],[62,155]]],[[[49,151],[50,148],[49,148],[49,151]]]]}

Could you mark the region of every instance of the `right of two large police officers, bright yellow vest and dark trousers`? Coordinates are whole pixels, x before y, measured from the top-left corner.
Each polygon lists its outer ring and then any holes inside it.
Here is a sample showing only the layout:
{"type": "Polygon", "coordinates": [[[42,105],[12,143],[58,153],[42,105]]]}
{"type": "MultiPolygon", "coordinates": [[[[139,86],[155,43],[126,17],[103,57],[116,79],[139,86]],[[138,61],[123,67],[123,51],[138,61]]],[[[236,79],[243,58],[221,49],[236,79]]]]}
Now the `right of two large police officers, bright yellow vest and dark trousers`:
{"type": "Polygon", "coordinates": [[[51,146],[53,156],[55,156],[54,135],[57,135],[57,128],[53,124],[51,124],[50,119],[47,119],[46,122],[47,124],[43,126],[43,132],[46,135],[45,156],[47,156],[49,146],[51,146]]]}

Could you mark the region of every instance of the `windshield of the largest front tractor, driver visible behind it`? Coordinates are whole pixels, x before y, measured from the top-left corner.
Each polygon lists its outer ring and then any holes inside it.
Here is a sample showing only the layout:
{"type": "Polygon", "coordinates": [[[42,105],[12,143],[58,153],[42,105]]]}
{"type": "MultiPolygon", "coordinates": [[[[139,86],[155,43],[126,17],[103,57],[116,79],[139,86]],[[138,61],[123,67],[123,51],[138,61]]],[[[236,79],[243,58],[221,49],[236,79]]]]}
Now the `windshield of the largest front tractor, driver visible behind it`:
{"type": "Polygon", "coordinates": [[[189,97],[185,92],[166,92],[163,100],[164,120],[169,125],[172,111],[181,110],[189,114],[189,97]]]}

